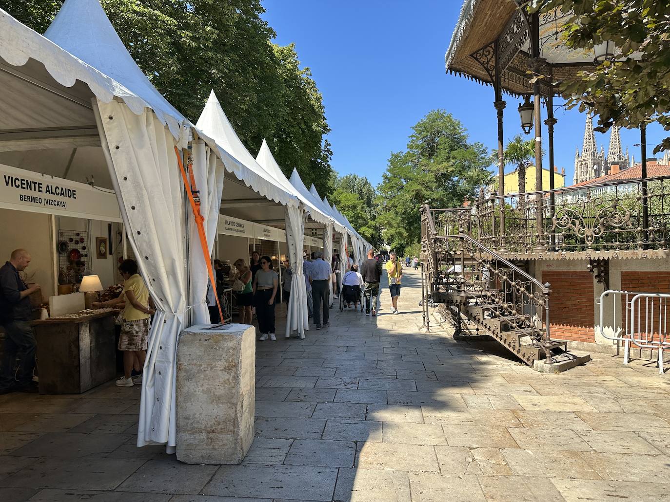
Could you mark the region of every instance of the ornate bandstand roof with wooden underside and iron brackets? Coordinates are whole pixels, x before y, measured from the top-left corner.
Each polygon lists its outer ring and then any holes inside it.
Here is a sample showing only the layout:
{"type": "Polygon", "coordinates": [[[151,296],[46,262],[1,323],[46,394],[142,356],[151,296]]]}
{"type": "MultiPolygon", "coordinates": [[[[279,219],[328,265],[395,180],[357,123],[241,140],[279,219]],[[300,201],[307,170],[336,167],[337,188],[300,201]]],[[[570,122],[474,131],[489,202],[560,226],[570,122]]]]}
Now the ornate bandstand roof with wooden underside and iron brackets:
{"type": "MultiPolygon", "coordinates": [[[[580,70],[594,67],[592,52],[563,43],[561,31],[570,15],[560,9],[539,15],[539,72],[547,76],[541,85],[545,96],[551,82],[572,80],[580,70]]],[[[530,33],[529,17],[516,0],[464,0],[445,56],[446,71],[486,85],[495,85],[497,71],[502,91],[531,94],[530,33]]]]}

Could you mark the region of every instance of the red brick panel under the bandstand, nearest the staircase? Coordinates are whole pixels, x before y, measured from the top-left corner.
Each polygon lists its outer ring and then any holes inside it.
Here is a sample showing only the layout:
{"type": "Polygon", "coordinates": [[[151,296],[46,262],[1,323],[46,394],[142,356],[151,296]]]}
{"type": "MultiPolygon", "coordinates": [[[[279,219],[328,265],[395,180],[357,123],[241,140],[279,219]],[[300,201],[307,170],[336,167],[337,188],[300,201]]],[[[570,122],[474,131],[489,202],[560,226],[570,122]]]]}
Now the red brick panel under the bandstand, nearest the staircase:
{"type": "Polygon", "coordinates": [[[551,284],[551,337],[593,343],[593,276],[578,270],[543,270],[542,282],[551,284]]]}

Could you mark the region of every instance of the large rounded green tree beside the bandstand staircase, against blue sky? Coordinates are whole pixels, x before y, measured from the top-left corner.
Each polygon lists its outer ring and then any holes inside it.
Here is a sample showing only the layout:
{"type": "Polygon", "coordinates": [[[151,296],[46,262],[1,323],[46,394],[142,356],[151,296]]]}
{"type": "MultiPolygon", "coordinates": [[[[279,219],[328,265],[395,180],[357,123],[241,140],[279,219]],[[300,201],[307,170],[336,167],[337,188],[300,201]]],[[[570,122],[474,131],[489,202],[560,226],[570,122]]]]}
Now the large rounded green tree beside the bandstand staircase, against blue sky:
{"type": "Polygon", "coordinates": [[[466,129],[445,110],[433,110],[414,127],[407,149],[391,153],[379,185],[383,238],[402,254],[421,240],[419,207],[460,207],[492,177],[492,156],[481,143],[469,143],[466,129]]]}

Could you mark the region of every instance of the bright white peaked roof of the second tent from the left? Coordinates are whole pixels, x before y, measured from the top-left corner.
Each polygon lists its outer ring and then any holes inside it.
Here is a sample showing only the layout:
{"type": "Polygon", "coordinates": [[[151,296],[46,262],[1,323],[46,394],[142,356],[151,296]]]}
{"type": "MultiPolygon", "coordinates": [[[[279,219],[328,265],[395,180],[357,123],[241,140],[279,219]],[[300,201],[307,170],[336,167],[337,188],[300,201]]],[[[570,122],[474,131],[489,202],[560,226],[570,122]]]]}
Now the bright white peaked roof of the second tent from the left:
{"type": "Polygon", "coordinates": [[[236,163],[225,163],[226,169],[235,174],[237,179],[244,181],[263,197],[282,204],[298,204],[297,197],[287,187],[282,187],[282,183],[275,179],[272,173],[263,169],[247,151],[237,137],[235,129],[232,129],[213,90],[198,118],[196,128],[216,141],[218,149],[230,153],[237,160],[236,163]]]}

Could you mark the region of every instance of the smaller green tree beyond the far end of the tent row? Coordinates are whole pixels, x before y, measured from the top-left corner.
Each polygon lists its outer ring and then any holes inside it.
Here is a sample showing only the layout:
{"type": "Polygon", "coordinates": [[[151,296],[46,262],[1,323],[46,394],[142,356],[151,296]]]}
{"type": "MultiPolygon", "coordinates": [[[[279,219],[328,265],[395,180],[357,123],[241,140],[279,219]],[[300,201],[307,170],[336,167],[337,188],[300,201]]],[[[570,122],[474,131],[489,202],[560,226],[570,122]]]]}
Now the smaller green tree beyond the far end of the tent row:
{"type": "Polygon", "coordinates": [[[348,174],[334,182],[331,201],[346,216],[358,233],[374,248],[383,244],[377,224],[377,191],[364,177],[348,174]]]}

